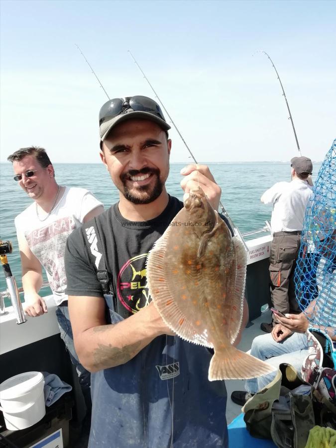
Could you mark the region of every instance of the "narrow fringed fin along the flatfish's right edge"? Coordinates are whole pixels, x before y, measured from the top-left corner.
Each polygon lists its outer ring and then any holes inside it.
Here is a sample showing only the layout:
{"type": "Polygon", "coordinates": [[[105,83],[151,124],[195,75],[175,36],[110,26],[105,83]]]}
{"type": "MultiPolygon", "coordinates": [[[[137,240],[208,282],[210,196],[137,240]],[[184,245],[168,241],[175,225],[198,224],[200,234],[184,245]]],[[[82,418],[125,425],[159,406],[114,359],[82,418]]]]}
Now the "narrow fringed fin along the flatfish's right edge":
{"type": "Polygon", "coordinates": [[[237,338],[242,324],[247,263],[247,253],[240,238],[233,236],[232,243],[236,254],[236,272],[232,311],[229,322],[229,338],[231,344],[237,338]]]}

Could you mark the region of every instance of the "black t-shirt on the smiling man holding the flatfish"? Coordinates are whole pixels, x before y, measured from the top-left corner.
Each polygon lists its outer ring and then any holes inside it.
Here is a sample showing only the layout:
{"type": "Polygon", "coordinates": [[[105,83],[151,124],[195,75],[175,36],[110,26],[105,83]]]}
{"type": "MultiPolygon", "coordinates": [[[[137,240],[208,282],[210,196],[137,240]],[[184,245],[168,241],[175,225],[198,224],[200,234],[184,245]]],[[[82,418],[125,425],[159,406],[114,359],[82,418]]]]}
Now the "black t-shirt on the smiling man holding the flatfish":
{"type": "MultiPolygon", "coordinates": [[[[150,302],[145,268],[148,252],[182,207],[181,201],[169,196],[165,210],[150,221],[124,219],[117,204],[96,218],[112,280],[115,311],[123,318],[150,302]]],[[[68,295],[103,297],[81,228],[74,230],[67,240],[65,268],[68,295]]]]}

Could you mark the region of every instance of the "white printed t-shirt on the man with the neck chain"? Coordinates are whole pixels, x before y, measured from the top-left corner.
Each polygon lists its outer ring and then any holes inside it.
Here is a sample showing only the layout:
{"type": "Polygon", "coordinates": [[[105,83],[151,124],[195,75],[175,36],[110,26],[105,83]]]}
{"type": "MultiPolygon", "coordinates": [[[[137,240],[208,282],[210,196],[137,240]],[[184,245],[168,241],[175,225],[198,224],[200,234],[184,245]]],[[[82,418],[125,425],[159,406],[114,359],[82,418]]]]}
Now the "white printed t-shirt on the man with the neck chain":
{"type": "Polygon", "coordinates": [[[35,202],[15,218],[16,232],[24,234],[30,250],[46,270],[57,305],[68,299],[64,268],[67,237],[89,212],[101,205],[88,190],[65,187],[59,203],[45,221],[37,218],[35,202]]]}

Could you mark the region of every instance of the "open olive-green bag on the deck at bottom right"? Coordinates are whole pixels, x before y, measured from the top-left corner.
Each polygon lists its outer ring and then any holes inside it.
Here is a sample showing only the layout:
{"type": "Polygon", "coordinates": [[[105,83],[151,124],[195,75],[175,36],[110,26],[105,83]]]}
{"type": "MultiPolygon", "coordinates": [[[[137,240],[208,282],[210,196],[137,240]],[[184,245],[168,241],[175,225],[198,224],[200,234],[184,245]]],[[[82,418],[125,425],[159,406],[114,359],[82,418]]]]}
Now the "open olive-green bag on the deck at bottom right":
{"type": "Polygon", "coordinates": [[[286,363],[242,412],[251,436],[271,439],[279,448],[304,448],[315,425],[333,428],[336,423],[336,407],[286,363]]]}

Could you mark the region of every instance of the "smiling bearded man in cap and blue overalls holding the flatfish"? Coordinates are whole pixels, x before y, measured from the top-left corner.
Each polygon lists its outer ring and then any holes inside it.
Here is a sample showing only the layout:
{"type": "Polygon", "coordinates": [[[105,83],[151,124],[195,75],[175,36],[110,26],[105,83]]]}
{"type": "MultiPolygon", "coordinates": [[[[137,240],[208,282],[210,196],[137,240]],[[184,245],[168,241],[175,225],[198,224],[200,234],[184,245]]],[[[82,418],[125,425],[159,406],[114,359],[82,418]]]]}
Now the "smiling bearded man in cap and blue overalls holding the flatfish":
{"type": "MultiPolygon", "coordinates": [[[[183,207],[165,187],[170,126],[141,96],[107,102],[99,124],[119,202],[75,230],[65,254],[74,341],[92,372],[89,447],[227,447],[225,384],[208,380],[212,353],[174,336],[148,294],[147,254],[183,207]]],[[[208,167],[181,174],[185,195],[200,185],[217,210],[221,189],[208,167]]]]}

